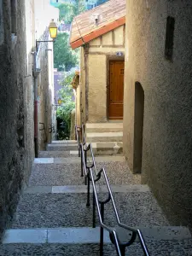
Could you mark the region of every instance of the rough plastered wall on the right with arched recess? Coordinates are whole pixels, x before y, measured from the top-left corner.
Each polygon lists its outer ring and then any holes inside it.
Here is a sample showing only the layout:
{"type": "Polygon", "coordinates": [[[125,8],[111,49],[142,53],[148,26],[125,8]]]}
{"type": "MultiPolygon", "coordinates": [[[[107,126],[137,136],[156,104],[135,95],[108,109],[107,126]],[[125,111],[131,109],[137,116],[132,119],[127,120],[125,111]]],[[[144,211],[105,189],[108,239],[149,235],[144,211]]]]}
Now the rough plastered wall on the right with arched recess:
{"type": "Polygon", "coordinates": [[[190,226],[191,10],[190,0],[127,0],[124,101],[124,152],[131,170],[142,172],[143,183],[149,184],[172,224],[190,226]],[[165,55],[168,16],[175,19],[170,60],[165,55]]]}

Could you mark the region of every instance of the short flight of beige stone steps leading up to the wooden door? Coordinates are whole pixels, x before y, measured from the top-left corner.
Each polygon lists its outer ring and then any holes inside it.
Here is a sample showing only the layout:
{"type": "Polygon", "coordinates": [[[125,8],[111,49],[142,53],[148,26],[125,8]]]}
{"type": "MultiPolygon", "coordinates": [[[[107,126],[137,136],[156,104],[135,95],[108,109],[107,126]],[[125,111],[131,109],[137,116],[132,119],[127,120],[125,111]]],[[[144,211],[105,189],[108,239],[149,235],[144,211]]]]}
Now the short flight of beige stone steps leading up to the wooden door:
{"type": "Polygon", "coordinates": [[[123,123],[87,123],[86,141],[92,143],[95,155],[113,155],[123,152],[123,123]]]}

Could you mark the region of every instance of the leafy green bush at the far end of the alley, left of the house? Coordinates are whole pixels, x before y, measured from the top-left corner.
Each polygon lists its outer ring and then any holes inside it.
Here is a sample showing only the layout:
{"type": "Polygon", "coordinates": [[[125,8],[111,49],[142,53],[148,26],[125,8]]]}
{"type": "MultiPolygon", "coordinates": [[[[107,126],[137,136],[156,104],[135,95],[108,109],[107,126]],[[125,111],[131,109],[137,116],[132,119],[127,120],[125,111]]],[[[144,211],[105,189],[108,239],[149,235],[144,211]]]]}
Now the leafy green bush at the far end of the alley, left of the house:
{"type": "Polygon", "coordinates": [[[59,138],[65,139],[70,136],[71,128],[71,112],[75,108],[75,102],[73,102],[73,81],[74,74],[67,76],[61,82],[62,88],[59,90],[59,95],[61,96],[62,104],[61,107],[57,108],[56,117],[62,120],[62,127],[58,129],[59,138]]]}

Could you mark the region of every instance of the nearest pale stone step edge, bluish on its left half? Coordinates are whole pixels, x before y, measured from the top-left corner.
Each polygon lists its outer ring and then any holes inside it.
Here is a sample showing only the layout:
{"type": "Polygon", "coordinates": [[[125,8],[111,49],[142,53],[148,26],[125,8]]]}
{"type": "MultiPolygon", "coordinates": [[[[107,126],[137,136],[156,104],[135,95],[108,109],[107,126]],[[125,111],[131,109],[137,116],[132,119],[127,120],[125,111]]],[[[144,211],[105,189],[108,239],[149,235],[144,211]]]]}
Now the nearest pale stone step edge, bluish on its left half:
{"type": "MultiPolygon", "coordinates": [[[[189,230],[185,227],[150,227],[141,228],[144,239],[154,241],[180,241],[191,239],[189,230]]],[[[128,233],[130,233],[128,231],[128,233]]],[[[128,234],[129,235],[129,234],[128,234]]],[[[55,229],[24,229],[6,230],[3,236],[3,244],[10,243],[99,243],[100,228],[55,228],[55,229]]],[[[138,241],[138,239],[137,239],[138,241]]],[[[104,230],[104,242],[110,243],[108,231],[104,230]]]]}

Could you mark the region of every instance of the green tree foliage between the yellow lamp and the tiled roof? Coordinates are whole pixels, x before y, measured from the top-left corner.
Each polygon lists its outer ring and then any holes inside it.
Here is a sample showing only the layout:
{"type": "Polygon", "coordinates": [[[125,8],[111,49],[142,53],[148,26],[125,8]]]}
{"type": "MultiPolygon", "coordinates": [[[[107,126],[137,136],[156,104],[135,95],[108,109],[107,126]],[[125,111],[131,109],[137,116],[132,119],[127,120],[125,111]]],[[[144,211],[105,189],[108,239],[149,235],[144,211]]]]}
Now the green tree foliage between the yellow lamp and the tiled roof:
{"type": "Polygon", "coordinates": [[[54,43],[54,67],[58,71],[69,70],[79,65],[79,49],[69,48],[68,40],[67,33],[59,33],[54,43]]]}

